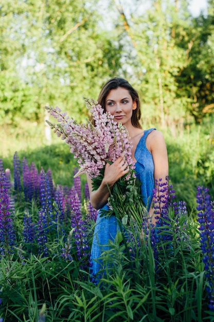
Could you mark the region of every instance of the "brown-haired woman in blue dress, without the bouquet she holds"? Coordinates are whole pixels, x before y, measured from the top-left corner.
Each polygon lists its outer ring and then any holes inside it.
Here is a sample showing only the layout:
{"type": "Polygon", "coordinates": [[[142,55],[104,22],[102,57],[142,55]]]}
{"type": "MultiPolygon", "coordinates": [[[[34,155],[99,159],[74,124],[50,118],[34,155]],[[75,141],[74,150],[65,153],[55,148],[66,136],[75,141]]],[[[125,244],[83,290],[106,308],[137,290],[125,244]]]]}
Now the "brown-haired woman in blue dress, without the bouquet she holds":
{"type": "MultiPolygon", "coordinates": [[[[102,88],[98,103],[104,112],[110,112],[116,122],[126,126],[132,141],[132,159],[135,162],[135,171],[141,182],[141,195],[152,217],[152,190],[155,180],[168,175],[168,156],[164,136],[152,128],[143,130],[140,120],[140,101],[135,89],[128,81],[122,78],[110,79],[102,88]]],[[[93,121],[93,120],[92,120],[93,121]]],[[[109,189],[124,174],[129,172],[129,167],[124,157],[124,152],[113,164],[106,163],[101,185],[92,191],[92,180],[87,177],[90,191],[91,204],[96,209],[108,209],[106,205],[109,198],[109,189]]],[[[155,224],[154,216],[152,222],[155,224]]],[[[94,239],[91,251],[92,274],[96,275],[102,266],[98,260],[109,240],[114,240],[118,230],[114,216],[104,218],[98,213],[94,239]]]]}

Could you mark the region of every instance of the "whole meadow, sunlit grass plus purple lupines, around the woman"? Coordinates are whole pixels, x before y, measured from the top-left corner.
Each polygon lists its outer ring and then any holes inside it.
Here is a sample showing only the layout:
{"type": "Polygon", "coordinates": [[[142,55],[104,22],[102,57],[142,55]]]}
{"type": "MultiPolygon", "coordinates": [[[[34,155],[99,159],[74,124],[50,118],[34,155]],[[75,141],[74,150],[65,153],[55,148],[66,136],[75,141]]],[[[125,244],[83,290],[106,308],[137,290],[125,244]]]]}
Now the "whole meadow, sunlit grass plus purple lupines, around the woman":
{"type": "Polygon", "coordinates": [[[165,131],[176,198],[155,234],[140,238],[134,222],[118,231],[98,284],[89,265],[96,211],[68,147],[47,142],[44,126],[2,132],[0,318],[213,321],[212,121],[165,131]]]}

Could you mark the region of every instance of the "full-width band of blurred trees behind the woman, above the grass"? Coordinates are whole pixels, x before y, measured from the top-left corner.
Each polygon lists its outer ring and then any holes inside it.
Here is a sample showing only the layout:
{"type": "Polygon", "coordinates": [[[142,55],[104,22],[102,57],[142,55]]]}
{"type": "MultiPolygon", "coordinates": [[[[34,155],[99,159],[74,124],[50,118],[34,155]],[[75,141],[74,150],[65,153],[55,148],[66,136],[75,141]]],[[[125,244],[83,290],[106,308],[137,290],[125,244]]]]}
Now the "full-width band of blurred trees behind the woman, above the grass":
{"type": "Polygon", "coordinates": [[[196,18],[186,0],[129,4],[2,0],[0,122],[40,122],[46,103],[85,119],[83,96],[112,76],[139,91],[145,126],[175,133],[213,112],[212,1],[196,18]]]}

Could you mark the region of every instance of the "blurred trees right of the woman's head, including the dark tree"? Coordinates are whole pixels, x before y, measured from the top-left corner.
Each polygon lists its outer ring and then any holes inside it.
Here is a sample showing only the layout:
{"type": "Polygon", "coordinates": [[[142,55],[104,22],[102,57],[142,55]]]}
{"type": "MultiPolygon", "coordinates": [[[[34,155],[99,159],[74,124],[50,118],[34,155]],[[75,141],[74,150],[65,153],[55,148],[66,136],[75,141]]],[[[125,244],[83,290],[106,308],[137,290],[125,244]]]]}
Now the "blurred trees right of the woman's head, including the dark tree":
{"type": "MultiPolygon", "coordinates": [[[[186,0],[153,0],[147,9],[127,10],[115,1],[128,77],[142,96],[144,119],[175,132],[193,116],[213,109],[213,14],[191,16],[186,0]],[[130,74],[130,75],[129,75],[130,74]]],[[[211,3],[210,3],[211,7],[211,3]]],[[[119,30],[119,28],[118,28],[119,30]]]]}

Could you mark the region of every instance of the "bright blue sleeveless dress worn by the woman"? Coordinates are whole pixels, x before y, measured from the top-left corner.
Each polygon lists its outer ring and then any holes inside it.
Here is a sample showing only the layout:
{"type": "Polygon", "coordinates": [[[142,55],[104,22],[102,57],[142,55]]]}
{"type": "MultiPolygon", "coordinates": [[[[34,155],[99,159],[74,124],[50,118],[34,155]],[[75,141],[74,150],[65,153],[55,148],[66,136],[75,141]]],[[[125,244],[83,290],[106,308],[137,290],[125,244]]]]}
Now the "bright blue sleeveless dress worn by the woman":
{"type": "MultiPolygon", "coordinates": [[[[152,189],[154,189],[154,162],[152,154],[146,147],[146,138],[148,134],[156,130],[154,128],[145,130],[144,135],[140,138],[135,150],[135,163],[136,176],[141,182],[141,195],[144,200],[147,209],[149,209],[152,201],[152,189]]],[[[108,210],[108,206],[105,205],[102,209],[108,210]]],[[[119,230],[117,219],[115,216],[100,217],[100,211],[98,212],[94,237],[91,250],[91,275],[96,274],[102,269],[102,260],[99,260],[102,252],[109,249],[109,240],[114,240],[119,230]]],[[[95,280],[96,281],[96,280],[95,280]]]]}

